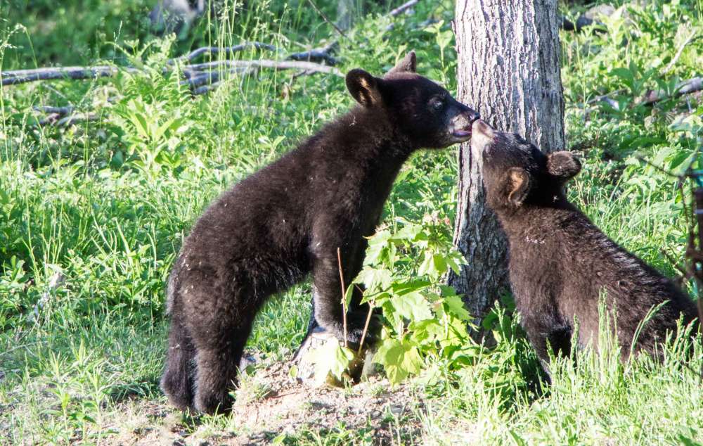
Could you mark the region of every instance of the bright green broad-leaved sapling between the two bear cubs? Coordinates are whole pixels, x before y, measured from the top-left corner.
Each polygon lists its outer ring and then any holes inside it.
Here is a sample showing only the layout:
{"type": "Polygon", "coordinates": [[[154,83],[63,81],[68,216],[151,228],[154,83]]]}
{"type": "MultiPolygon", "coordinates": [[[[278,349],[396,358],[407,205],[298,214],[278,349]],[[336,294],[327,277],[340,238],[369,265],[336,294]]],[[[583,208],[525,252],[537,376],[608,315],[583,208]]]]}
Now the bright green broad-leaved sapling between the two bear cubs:
{"type": "Polygon", "coordinates": [[[384,229],[370,238],[364,267],[352,283],[365,288],[363,302],[382,310],[374,361],[392,383],[418,374],[428,357],[458,367],[475,352],[470,314],[453,288],[441,283],[449,269],[458,272],[465,264],[446,223],[432,217],[421,224],[400,220],[398,231],[384,229]]]}

